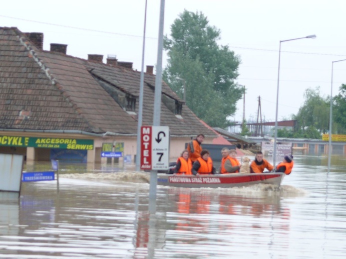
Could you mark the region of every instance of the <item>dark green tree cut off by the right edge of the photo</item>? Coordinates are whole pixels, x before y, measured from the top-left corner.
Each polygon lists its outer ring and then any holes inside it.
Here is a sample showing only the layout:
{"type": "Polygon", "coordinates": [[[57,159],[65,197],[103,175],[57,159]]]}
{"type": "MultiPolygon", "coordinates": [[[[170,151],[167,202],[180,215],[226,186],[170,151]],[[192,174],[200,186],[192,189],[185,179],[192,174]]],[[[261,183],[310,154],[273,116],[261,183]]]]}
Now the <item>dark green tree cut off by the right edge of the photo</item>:
{"type": "Polygon", "coordinates": [[[333,98],[333,127],[332,131],[346,134],[346,85],[339,88],[339,95],[333,98]]]}

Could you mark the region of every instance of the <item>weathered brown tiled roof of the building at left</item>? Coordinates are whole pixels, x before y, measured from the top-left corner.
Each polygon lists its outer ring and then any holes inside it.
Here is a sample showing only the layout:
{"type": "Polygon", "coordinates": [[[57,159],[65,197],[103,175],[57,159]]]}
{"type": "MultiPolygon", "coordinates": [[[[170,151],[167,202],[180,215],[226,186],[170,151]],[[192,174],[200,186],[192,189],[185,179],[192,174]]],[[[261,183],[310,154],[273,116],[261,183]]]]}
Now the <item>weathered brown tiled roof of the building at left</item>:
{"type": "MultiPolygon", "coordinates": [[[[139,85],[140,72],[43,51],[18,29],[0,27],[0,129],[137,133],[137,117],[104,87],[138,98],[139,85]]],[[[155,76],[145,74],[143,125],[152,125],[154,86],[155,76]]],[[[164,82],[162,93],[182,103],[164,82]]],[[[215,135],[185,105],[181,116],[162,101],[160,125],[172,135],[215,135]]]]}

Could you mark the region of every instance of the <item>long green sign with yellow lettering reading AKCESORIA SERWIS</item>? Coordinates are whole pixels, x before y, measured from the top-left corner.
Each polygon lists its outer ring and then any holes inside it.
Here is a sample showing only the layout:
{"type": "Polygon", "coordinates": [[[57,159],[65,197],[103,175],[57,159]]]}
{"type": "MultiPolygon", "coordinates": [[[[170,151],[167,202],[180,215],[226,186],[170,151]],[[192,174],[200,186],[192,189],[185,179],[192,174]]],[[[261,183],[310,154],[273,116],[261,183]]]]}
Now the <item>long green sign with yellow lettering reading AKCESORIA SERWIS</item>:
{"type": "Polygon", "coordinates": [[[57,137],[0,136],[0,145],[90,150],[94,148],[94,140],[57,137]]]}

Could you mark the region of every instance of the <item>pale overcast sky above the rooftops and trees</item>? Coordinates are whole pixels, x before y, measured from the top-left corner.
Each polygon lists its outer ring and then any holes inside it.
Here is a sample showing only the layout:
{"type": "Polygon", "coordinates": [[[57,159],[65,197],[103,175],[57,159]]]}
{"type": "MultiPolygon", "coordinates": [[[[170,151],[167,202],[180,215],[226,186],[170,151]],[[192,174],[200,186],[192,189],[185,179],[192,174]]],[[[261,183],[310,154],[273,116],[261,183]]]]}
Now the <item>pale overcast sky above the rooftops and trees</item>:
{"type": "MultiPolygon", "coordinates": [[[[156,65],[161,0],[148,0],[146,65],[156,65]]],[[[278,119],[297,114],[307,88],[331,93],[332,61],[346,59],[345,0],[165,0],[164,34],[184,11],[200,11],[221,30],[242,63],[237,82],[247,89],[245,119],[275,120],[280,40],[316,34],[281,44],[278,119]]],[[[141,70],[145,0],[11,0],[1,2],[0,26],[43,32],[43,49],[67,44],[67,54],[116,55],[141,70]]],[[[163,67],[166,65],[164,53],[163,67]]],[[[346,83],[346,61],[334,63],[333,95],[346,83]]],[[[243,100],[232,120],[243,118],[243,100]]]]}

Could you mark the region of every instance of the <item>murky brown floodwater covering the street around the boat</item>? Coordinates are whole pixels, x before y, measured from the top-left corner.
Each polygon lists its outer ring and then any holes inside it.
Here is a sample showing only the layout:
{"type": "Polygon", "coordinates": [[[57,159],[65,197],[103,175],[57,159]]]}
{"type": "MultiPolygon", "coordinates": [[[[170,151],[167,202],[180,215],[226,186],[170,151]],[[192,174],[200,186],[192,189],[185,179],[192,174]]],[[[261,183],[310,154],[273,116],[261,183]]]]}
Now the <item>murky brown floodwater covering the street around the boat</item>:
{"type": "Polygon", "coordinates": [[[155,215],[147,173],[60,165],[59,192],[0,192],[0,258],[346,258],[346,157],[327,162],[296,156],[280,188],[158,186],[155,215]]]}

